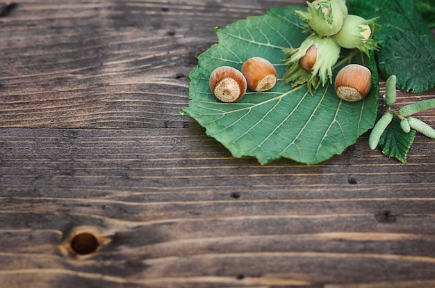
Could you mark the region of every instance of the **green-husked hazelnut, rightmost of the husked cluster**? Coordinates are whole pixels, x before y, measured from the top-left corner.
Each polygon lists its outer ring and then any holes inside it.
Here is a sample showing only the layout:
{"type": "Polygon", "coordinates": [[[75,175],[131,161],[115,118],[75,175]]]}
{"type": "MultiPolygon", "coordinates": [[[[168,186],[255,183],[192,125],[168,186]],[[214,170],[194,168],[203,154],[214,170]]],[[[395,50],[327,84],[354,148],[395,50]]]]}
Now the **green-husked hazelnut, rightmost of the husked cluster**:
{"type": "Polygon", "coordinates": [[[368,55],[368,51],[379,48],[378,42],[373,40],[373,33],[379,29],[379,24],[375,23],[378,18],[366,20],[357,15],[346,15],[340,31],[332,38],[343,48],[356,48],[368,55]]]}

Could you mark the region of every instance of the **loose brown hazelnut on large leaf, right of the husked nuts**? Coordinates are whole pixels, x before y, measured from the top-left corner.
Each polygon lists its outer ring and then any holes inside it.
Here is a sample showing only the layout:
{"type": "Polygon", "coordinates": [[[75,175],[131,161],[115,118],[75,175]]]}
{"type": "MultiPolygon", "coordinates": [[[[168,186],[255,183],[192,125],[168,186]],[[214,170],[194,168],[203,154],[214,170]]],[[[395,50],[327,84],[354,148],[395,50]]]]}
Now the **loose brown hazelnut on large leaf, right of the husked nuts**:
{"type": "Polygon", "coordinates": [[[359,101],[366,97],[372,87],[372,73],[363,65],[346,65],[338,71],[334,86],[338,98],[349,102],[359,101]]]}

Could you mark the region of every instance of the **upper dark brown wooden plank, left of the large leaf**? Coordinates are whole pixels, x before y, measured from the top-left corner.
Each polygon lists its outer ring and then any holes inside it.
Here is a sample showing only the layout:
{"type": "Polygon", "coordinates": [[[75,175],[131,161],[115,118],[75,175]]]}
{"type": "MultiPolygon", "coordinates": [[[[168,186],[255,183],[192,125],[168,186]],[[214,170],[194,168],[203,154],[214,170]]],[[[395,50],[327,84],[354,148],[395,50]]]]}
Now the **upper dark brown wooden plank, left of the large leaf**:
{"type": "Polygon", "coordinates": [[[19,3],[0,17],[0,126],[188,127],[187,75],[214,27],[290,3],[19,3]]]}

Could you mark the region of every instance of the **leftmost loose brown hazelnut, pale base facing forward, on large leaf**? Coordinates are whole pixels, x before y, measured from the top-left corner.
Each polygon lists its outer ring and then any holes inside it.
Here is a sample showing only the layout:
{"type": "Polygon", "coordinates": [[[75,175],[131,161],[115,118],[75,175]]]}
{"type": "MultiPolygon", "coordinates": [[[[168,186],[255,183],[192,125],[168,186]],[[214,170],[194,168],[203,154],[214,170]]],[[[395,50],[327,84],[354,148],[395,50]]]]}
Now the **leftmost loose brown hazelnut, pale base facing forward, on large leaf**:
{"type": "Polygon", "coordinates": [[[222,102],[236,102],[246,92],[247,83],[242,72],[234,67],[217,67],[210,75],[210,89],[222,102]]]}

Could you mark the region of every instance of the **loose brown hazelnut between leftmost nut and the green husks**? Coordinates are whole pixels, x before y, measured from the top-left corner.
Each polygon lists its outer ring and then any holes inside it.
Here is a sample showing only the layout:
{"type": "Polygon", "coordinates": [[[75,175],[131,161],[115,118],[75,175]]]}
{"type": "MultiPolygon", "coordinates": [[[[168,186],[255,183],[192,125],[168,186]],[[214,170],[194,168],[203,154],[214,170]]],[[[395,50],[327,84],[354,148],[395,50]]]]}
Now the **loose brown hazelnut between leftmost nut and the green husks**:
{"type": "Polygon", "coordinates": [[[249,58],[242,65],[249,89],[263,92],[273,88],[277,83],[277,70],[272,63],[261,57],[249,58]]]}

